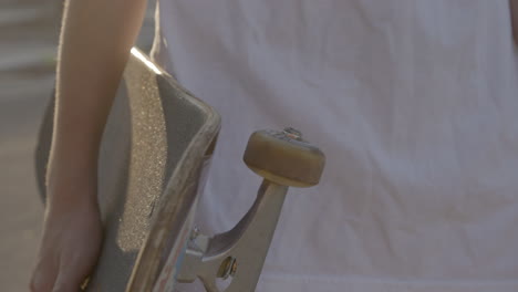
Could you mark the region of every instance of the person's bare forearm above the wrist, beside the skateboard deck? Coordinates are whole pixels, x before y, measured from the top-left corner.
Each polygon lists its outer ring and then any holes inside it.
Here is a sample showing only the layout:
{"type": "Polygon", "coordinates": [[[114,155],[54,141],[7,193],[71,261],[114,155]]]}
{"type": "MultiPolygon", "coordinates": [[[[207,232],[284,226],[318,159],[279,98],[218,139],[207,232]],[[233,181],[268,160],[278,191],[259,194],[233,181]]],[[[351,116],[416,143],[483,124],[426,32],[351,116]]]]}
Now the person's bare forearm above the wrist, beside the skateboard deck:
{"type": "Polygon", "coordinates": [[[146,0],[68,0],[49,184],[95,178],[104,124],[145,8],[146,0]]]}

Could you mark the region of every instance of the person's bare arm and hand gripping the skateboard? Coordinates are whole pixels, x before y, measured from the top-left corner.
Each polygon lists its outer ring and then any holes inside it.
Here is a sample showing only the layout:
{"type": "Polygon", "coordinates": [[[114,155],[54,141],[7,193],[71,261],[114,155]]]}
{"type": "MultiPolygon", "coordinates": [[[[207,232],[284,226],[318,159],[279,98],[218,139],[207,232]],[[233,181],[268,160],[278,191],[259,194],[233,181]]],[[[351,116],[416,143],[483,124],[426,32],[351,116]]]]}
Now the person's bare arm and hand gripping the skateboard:
{"type": "Polygon", "coordinates": [[[146,0],[68,0],[59,50],[48,206],[32,291],[79,291],[102,240],[100,140],[146,0]]]}

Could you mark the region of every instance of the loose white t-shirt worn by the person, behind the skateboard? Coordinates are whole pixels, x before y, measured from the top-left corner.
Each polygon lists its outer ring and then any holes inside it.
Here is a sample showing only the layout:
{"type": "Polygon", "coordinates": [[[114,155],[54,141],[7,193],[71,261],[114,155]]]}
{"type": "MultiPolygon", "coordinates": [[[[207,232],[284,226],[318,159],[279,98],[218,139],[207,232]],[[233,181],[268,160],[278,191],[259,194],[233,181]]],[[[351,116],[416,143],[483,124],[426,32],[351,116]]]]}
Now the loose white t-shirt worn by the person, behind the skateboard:
{"type": "Polygon", "coordinates": [[[255,199],[241,161],[253,131],[293,126],[328,157],[320,186],[290,190],[257,291],[518,291],[508,0],[158,9],[153,58],[222,116],[207,232],[255,199]]]}

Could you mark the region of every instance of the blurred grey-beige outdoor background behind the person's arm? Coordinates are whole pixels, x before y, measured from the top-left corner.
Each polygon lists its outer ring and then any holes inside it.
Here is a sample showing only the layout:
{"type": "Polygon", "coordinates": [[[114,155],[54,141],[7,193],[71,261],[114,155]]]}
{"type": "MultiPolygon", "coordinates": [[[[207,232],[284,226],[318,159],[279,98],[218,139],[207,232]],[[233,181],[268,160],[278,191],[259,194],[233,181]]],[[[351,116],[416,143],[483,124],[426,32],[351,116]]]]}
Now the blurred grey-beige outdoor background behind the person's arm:
{"type": "MultiPolygon", "coordinates": [[[[137,46],[153,41],[149,0],[137,46]]],[[[0,291],[28,291],[43,219],[33,152],[54,82],[63,0],[0,0],[0,291]]]]}

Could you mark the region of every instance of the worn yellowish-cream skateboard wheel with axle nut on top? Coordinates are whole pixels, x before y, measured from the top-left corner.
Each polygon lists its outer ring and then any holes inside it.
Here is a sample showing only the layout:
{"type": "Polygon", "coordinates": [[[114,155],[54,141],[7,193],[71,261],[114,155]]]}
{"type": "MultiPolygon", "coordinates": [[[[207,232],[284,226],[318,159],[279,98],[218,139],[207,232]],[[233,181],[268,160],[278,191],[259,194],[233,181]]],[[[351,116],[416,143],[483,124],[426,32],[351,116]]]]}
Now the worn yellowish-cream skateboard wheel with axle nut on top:
{"type": "Polygon", "coordinates": [[[319,184],[324,154],[293,128],[258,131],[250,136],[244,160],[259,176],[284,186],[319,184]]]}

